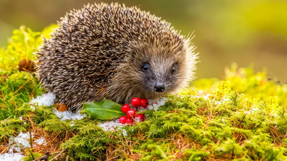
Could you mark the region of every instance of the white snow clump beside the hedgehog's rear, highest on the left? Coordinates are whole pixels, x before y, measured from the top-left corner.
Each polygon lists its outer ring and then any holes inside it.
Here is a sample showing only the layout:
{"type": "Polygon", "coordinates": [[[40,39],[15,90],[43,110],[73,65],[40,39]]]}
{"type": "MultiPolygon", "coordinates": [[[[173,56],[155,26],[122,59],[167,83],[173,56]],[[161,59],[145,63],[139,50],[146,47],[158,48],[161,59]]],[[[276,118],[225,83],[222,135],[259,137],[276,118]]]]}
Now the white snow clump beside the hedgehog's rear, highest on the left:
{"type": "MultiPolygon", "coordinates": [[[[39,106],[52,106],[54,104],[55,99],[56,99],[56,96],[53,93],[48,92],[47,94],[37,96],[37,98],[33,97],[30,103],[38,102],[39,106]]],[[[31,105],[31,108],[35,110],[35,106],[31,105]]]]}

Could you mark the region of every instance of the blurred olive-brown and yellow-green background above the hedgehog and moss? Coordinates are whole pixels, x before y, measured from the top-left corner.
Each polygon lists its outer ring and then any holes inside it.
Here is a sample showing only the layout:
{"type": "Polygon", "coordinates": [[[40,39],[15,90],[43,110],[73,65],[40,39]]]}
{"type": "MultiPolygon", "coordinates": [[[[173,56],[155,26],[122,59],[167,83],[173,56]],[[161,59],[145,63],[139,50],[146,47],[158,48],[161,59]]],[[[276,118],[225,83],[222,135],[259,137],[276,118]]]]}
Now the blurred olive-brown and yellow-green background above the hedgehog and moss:
{"type": "MultiPolygon", "coordinates": [[[[113,1],[0,0],[0,46],[20,25],[41,31],[73,8],[94,2],[113,1]]],[[[198,78],[222,78],[224,67],[236,62],[240,67],[253,64],[255,71],[266,67],[269,77],[287,81],[287,0],[118,2],[150,11],[184,35],[194,31],[198,78]]]]}

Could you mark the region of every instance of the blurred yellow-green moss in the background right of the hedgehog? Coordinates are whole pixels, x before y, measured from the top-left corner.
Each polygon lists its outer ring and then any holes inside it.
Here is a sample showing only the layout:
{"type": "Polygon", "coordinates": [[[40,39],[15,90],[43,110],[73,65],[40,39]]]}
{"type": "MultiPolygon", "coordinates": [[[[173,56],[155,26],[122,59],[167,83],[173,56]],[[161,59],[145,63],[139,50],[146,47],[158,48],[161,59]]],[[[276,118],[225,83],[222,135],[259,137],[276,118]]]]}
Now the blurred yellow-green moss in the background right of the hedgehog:
{"type": "Polygon", "coordinates": [[[195,94],[193,91],[202,92],[203,94],[214,91],[220,92],[217,88],[218,83],[224,84],[226,91],[233,90],[244,93],[250,99],[278,101],[279,105],[287,106],[286,84],[267,81],[265,70],[255,73],[252,68],[238,68],[236,64],[225,69],[224,81],[216,78],[201,79],[193,82],[191,88],[182,90],[181,94],[195,94]]]}

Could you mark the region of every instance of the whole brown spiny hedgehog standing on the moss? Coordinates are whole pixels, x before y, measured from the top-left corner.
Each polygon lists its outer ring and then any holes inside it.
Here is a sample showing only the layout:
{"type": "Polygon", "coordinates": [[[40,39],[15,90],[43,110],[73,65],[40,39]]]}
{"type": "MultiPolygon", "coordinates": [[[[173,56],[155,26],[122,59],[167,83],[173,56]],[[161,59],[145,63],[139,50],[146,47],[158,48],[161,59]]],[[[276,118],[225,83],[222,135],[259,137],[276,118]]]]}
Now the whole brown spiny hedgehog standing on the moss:
{"type": "Polygon", "coordinates": [[[191,36],[149,12],[95,3],[60,20],[35,53],[36,76],[69,110],[104,98],[157,99],[195,78],[198,56],[191,36]]]}

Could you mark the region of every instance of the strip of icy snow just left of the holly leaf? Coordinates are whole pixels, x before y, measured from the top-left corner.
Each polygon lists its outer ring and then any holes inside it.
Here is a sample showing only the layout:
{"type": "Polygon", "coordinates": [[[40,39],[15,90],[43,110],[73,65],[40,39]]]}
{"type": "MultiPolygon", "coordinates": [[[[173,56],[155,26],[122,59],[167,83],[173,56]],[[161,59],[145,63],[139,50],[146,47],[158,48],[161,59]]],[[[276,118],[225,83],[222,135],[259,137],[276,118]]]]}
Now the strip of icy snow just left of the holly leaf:
{"type": "Polygon", "coordinates": [[[76,112],[73,113],[72,111],[58,111],[55,110],[54,114],[59,117],[60,121],[64,121],[64,120],[81,120],[84,117],[87,117],[87,114],[85,113],[80,113],[80,112],[76,112]]]}

